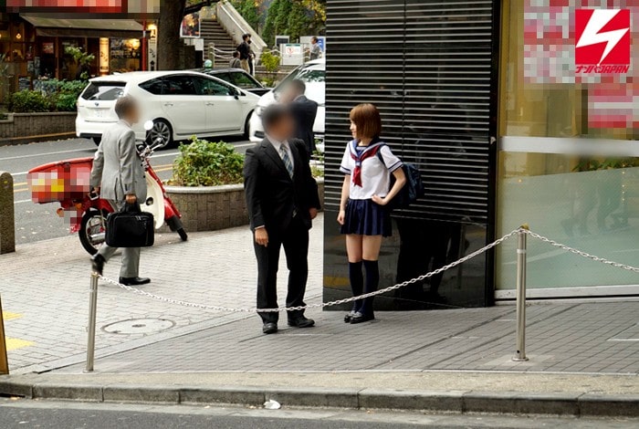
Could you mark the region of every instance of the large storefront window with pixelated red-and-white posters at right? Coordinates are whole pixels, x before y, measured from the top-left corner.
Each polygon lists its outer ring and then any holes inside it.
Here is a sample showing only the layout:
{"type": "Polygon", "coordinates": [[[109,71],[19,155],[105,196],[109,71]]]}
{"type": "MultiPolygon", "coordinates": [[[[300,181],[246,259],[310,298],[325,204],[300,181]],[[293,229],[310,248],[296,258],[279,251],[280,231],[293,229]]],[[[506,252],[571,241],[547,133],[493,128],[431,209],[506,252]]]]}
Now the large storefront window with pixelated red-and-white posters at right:
{"type": "MultiPolygon", "coordinates": [[[[578,64],[580,22],[610,2],[559,3],[503,2],[498,235],[528,223],[569,246],[637,266],[639,87],[632,81],[639,64],[606,64],[606,44],[589,51],[600,65],[578,64]]],[[[614,2],[614,9],[639,16],[631,3],[614,2]]],[[[610,16],[623,28],[623,12],[610,16]]],[[[639,40],[634,31],[629,40],[639,40]]],[[[623,41],[608,54],[620,63],[623,41]]],[[[625,55],[636,60],[636,52],[631,44],[625,55]]],[[[533,296],[639,293],[634,273],[535,240],[528,268],[533,296]]],[[[512,242],[498,249],[496,285],[498,298],[512,296],[512,242]]]]}

